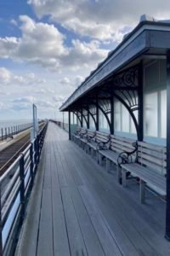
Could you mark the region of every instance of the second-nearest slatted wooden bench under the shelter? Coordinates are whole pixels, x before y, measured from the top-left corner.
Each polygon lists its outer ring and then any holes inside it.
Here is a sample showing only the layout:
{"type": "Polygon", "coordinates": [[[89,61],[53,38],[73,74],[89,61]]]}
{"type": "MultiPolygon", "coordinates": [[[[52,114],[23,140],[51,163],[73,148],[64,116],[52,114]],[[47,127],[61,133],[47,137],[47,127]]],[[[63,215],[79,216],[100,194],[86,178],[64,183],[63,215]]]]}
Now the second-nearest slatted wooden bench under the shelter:
{"type": "Polygon", "coordinates": [[[102,161],[105,159],[107,172],[110,171],[111,163],[116,165],[116,177],[118,182],[122,174],[121,167],[118,164],[118,158],[124,151],[129,155],[133,155],[133,158],[135,158],[135,152],[137,151],[136,143],[126,137],[116,137],[114,135],[111,135],[108,148],[99,148],[99,164],[102,165],[102,161]]]}

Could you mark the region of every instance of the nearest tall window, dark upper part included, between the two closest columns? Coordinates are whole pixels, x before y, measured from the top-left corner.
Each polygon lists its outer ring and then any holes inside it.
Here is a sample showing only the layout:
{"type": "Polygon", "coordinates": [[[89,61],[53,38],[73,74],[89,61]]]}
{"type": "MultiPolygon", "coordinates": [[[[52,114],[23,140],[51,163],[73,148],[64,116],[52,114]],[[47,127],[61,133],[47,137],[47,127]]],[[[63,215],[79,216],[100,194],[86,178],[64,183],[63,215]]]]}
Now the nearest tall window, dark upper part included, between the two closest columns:
{"type": "Polygon", "coordinates": [[[144,137],[165,139],[167,131],[166,61],[144,67],[144,137]]]}

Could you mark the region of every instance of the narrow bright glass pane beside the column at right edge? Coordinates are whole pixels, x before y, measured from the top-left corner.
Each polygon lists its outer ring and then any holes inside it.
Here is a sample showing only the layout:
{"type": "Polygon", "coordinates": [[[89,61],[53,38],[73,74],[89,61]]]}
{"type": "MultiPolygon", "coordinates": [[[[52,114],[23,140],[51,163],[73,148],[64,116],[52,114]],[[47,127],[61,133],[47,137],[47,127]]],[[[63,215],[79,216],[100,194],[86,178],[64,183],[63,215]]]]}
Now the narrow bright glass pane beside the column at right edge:
{"type": "Polygon", "coordinates": [[[167,90],[161,90],[161,137],[166,138],[167,134],[167,90]]]}

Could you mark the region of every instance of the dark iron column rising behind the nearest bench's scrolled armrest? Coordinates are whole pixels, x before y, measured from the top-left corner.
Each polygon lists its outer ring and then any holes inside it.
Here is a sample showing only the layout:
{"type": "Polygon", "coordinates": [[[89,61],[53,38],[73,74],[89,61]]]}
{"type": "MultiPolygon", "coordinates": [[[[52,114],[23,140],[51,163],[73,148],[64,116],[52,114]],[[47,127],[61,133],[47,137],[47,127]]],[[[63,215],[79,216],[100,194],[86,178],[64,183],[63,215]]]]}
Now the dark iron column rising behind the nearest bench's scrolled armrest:
{"type": "Polygon", "coordinates": [[[138,127],[138,140],[139,142],[143,141],[144,138],[144,67],[143,61],[140,61],[139,65],[139,127],[138,127]]]}

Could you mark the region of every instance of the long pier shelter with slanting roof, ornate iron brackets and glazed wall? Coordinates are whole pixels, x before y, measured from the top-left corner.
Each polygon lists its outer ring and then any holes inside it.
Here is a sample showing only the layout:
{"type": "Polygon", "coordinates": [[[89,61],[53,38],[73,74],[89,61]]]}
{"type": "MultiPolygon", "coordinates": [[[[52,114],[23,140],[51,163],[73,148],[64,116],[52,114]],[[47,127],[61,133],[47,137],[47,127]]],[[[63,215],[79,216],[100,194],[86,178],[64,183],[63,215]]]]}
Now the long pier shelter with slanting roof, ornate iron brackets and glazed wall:
{"type": "Polygon", "coordinates": [[[166,148],[170,240],[170,20],[141,16],[105,61],[63,103],[77,125],[166,148]]]}

